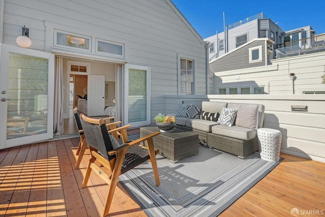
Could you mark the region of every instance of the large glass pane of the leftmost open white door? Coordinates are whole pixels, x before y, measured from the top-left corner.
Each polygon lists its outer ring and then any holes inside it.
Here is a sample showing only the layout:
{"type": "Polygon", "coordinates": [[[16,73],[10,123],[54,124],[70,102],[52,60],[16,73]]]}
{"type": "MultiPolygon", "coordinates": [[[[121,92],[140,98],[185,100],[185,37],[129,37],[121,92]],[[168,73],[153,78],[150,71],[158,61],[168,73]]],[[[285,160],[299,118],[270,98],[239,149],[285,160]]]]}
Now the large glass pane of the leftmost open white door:
{"type": "Polygon", "coordinates": [[[47,132],[48,60],[9,53],[7,139],[47,132]]]}

